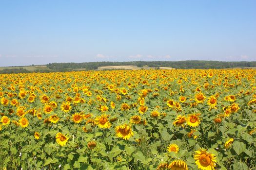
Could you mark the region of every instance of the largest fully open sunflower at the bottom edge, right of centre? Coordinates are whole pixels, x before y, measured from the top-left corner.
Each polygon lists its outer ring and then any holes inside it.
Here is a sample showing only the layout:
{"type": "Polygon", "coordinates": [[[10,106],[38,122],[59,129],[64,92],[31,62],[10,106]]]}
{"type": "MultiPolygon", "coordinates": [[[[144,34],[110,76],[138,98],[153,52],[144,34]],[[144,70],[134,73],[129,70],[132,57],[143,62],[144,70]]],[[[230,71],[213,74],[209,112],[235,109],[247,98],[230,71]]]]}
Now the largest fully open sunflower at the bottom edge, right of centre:
{"type": "Polygon", "coordinates": [[[209,153],[206,149],[199,149],[194,155],[194,159],[200,170],[214,170],[216,167],[215,154],[209,153]]]}

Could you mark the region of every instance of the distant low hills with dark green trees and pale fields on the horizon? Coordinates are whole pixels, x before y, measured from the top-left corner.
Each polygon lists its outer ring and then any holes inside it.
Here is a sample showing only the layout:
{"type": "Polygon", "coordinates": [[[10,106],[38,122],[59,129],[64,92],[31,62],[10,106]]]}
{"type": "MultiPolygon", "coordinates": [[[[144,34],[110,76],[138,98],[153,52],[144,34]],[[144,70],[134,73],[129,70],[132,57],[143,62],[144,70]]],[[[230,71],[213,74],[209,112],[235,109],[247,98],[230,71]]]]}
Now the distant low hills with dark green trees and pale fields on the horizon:
{"type": "Polygon", "coordinates": [[[209,69],[209,68],[256,68],[252,62],[224,61],[131,61],[131,62],[87,62],[87,63],[49,63],[41,66],[2,67],[0,73],[59,72],[103,69],[209,69]]]}

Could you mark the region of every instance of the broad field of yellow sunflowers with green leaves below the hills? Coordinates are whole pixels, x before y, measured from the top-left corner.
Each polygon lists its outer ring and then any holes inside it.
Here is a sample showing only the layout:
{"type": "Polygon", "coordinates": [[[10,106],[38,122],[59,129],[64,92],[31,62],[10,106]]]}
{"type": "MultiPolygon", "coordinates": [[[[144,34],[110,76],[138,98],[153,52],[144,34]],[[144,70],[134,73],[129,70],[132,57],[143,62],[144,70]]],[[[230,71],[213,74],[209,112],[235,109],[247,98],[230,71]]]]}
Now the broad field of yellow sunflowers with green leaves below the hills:
{"type": "Polygon", "coordinates": [[[0,74],[0,170],[255,170],[255,76],[0,74]]]}

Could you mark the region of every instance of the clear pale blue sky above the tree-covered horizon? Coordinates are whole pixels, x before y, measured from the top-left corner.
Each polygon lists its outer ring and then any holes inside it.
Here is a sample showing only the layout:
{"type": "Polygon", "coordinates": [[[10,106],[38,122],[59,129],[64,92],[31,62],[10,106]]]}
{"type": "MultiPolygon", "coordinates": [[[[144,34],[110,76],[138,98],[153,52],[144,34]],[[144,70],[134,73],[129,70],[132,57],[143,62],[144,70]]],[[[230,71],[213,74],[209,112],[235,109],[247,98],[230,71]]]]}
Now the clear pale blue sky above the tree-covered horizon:
{"type": "Polygon", "coordinates": [[[0,0],[0,66],[256,61],[256,0],[0,0]]]}

